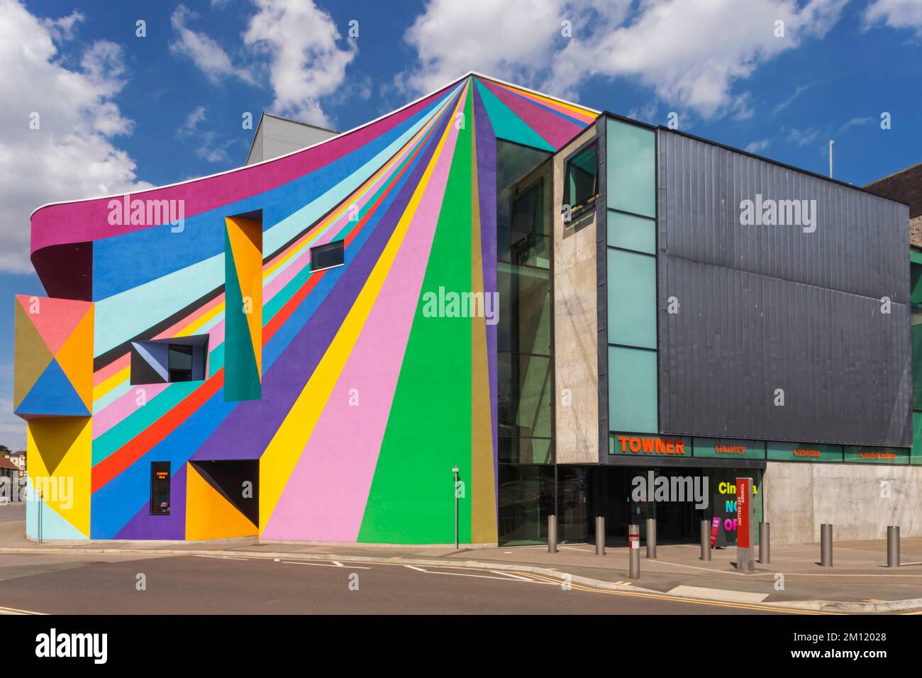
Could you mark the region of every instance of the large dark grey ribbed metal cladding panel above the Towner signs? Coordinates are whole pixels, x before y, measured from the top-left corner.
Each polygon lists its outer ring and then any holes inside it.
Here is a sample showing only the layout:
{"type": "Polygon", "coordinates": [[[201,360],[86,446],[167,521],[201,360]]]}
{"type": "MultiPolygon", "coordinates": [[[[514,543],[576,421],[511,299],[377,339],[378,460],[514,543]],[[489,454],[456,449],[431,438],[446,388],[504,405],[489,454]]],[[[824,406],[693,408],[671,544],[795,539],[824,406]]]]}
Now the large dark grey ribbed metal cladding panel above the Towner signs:
{"type": "Polygon", "coordinates": [[[910,446],[908,208],[657,134],[660,428],[910,446]],[[756,194],[815,199],[816,232],[741,225],[756,194]]]}

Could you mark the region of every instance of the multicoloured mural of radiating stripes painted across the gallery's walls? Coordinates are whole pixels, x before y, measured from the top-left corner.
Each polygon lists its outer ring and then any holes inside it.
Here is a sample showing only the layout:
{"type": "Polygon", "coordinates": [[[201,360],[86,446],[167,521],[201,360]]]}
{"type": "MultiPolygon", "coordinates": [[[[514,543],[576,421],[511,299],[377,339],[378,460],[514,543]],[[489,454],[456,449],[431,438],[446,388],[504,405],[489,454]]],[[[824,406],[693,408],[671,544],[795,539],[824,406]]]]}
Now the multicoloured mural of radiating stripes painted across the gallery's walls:
{"type": "Polygon", "coordinates": [[[497,290],[497,139],[553,151],[596,117],[471,74],[286,156],[36,210],[40,278],[92,280],[91,303],[42,300],[61,304],[54,330],[17,310],[18,413],[92,415],[68,447],[86,459],[77,531],[449,543],[457,466],[460,541],[496,541],[497,328],[422,300],[497,290]],[[182,201],[184,222],[110,219],[124,201],[182,201]],[[343,264],[312,270],[337,242],[343,264]],[[68,260],[75,244],[91,257],[68,260]],[[66,345],[88,332],[89,377],[66,345]],[[133,383],[133,344],[183,338],[207,346],[201,378],[133,383]],[[168,514],[150,510],[153,462],[168,514]]]}

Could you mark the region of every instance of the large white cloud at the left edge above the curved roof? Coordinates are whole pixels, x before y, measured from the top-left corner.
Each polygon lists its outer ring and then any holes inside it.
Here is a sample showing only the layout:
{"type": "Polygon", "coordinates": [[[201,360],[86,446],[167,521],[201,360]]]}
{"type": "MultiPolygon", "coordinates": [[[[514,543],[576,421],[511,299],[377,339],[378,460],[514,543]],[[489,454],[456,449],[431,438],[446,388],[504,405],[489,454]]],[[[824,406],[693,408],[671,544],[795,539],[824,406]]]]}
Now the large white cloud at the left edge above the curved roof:
{"type": "Polygon", "coordinates": [[[124,86],[121,50],[95,42],[78,67],[65,66],[54,40],[76,23],[41,21],[15,0],[0,0],[0,270],[31,270],[34,208],[150,185],[137,181],[135,161],[112,143],[132,130],[112,101],[124,86]],[[32,113],[39,129],[30,128],[32,113]]]}

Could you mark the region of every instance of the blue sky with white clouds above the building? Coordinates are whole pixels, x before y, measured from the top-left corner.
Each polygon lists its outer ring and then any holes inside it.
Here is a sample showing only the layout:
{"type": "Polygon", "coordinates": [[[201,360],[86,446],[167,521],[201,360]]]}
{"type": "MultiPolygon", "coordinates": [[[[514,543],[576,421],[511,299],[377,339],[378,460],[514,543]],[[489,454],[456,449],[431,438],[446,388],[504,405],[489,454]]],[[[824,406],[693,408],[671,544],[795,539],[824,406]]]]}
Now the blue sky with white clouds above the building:
{"type": "Polygon", "coordinates": [[[0,0],[0,443],[30,211],[237,167],[243,113],[346,130],[473,69],[813,172],[833,138],[863,185],[922,161],[920,49],[922,0],[0,0]]]}

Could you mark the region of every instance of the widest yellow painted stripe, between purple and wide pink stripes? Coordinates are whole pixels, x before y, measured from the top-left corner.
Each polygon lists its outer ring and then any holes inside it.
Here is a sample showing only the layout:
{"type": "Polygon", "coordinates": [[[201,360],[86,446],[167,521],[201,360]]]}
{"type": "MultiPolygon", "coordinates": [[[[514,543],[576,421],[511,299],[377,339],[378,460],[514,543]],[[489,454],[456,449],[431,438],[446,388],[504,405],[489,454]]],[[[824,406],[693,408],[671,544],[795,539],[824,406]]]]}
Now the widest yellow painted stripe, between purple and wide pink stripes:
{"type": "MultiPolygon", "coordinates": [[[[466,99],[467,90],[465,96],[458,98],[455,104],[455,113],[466,99]]],[[[438,115],[435,116],[433,120],[438,117],[438,115]]],[[[295,400],[294,405],[285,417],[285,421],[278,427],[278,431],[266,447],[266,452],[263,453],[259,460],[260,533],[266,529],[266,523],[272,516],[272,512],[275,511],[282,490],[284,490],[291,472],[298,463],[298,459],[301,458],[304,446],[307,445],[307,441],[313,433],[313,427],[320,419],[326,401],[329,399],[330,394],[333,393],[333,388],[336,387],[339,375],[349,360],[349,354],[355,346],[355,342],[359,339],[361,329],[364,327],[368,315],[372,312],[372,306],[384,286],[384,280],[394,264],[400,245],[403,243],[409,225],[416,215],[417,208],[420,206],[420,200],[429,185],[432,172],[434,172],[435,166],[442,156],[445,139],[451,129],[451,125],[445,127],[429,165],[423,172],[420,183],[417,184],[407,208],[400,216],[400,220],[397,221],[390,240],[384,246],[384,252],[382,252],[374,268],[372,268],[368,280],[365,280],[359,296],[356,298],[352,308],[349,309],[349,314],[346,315],[342,325],[339,326],[337,335],[330,342],[324,357],[313,371],[307,385],[301,390],[301,394],[295,400]]]]}

